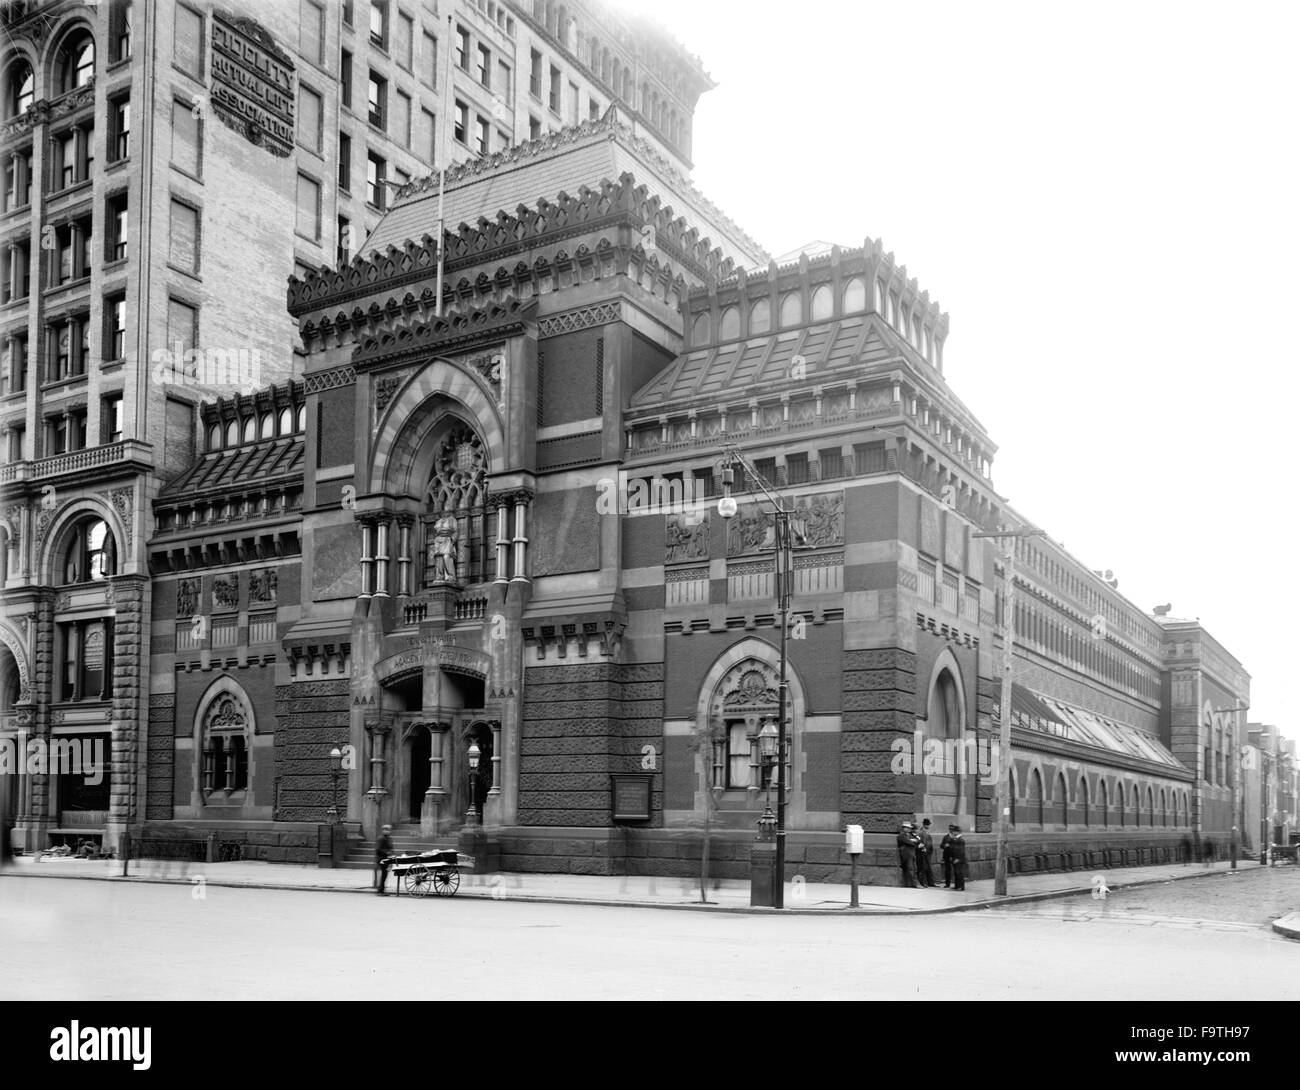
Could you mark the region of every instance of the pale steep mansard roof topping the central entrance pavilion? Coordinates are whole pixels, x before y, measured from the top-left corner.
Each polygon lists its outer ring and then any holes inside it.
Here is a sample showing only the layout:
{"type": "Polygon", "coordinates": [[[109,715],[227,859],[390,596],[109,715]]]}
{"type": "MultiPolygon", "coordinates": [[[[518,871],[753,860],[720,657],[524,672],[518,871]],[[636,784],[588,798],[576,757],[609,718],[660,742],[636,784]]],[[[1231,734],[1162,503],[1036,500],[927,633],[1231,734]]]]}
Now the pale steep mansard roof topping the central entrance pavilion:
{"type": "MultiPolygon", "coordinates": [[[[493,208],[532,204],[560,190],[578,190],[597,178],[633,174],[663,204],[679,209],[697,237],[737,265],[758,265],[767,251],[705,196],[649,140],[625,125],[616,107],[598,121],[584,121],[504,151],[448,166],[443,177],[446,222],[473,221],[493,208]]],[[[396,190],[393,207],[365,242],[384,251],[419,238],[438,222],[438,174],[416,178],[396,190]]]]}

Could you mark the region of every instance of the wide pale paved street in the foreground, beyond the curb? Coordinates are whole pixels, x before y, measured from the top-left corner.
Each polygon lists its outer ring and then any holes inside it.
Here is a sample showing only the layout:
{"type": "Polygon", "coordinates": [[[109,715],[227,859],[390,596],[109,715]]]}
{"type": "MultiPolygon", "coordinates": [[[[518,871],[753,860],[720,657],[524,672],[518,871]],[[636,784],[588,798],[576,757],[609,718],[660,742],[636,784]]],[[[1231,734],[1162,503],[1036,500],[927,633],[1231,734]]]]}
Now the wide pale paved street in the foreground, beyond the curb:
{"type": "Polygon", "coordinates": [[[0,999],[1300,999],[1297,874],[826,918],[0,878],[0,999]]]}

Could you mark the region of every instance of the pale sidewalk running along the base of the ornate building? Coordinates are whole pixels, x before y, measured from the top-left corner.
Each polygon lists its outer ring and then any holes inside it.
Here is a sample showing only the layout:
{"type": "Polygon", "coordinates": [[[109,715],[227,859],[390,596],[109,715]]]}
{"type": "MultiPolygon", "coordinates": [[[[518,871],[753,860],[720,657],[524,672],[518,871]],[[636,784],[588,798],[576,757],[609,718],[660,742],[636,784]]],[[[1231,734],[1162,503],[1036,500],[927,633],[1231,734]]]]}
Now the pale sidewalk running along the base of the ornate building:
{"type": "MultiPolygon", "coordinates": [[[[1225,874],[1230,864],[1212,866],[1166,864],[1162,866],[1134,866],[1105,871],[1109,890],[1123,890],[1158,882],[1190,878],[1208,878],[1225,874]]],[[[1243,862],[1240,871],[1260,870],[1258,864],[1243,862]]],[[[78,860],[46,857],[36,862],[25,856],[0,869],[4,878],[62,878],[104,882],[170,882],[212,887],[251,890],[318,890],[324,892],[372,892],[368,870],[321,870],[313,866],[269,862],[160,862],[133,861],[130,877],[122,877],[122,864],[117,860],[78,860]]],[[[1023,874],[1008,879],[1009,895],[993,896],[993,881],[967,882],[963,892],[941,886],[930,890],[907,890],[893,886],[861,886],[861,908],[849,908],[849,886],[810,882],[796,878],[785,884],[786,914],[913,914],[962,912],[1001,904],[1046,900],[1071,895],[1091,895],[1095,873],[1079,870],[1063,874],[1023,874]]],[[[393,890],[393,882],[389,882],[393,890]]],[[[406,892],[402,894],[406,896],[406,892]]],[[[708,903],[699,903],[699,882],[688,878],[607,878],[585,874],[488,874],[472,870],[460,873],[458,897],[491,897],[494,900],[525,900],[551,904],[599,904],[638,908],[677,908],[712,912],[770,913],[776,909],[750,908],[749,882],[723,879],[720,887],[708,891],[708,903]]],[[[429,896],[434,900],[433,895],[429,896]]],[[[1300,926],[1291,917],[1294,926],[1300,926]]]]}

